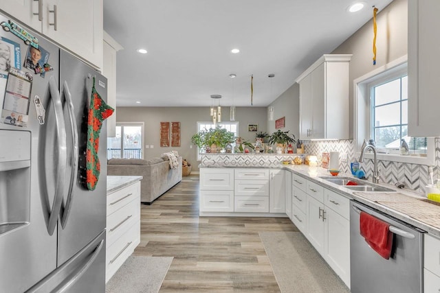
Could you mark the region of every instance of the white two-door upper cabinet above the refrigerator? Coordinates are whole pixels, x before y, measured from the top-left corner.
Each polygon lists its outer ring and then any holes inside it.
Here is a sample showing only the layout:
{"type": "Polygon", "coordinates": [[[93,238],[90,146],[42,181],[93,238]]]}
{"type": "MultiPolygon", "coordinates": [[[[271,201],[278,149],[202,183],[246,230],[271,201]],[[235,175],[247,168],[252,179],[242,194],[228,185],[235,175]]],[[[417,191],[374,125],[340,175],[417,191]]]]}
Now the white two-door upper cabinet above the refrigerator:
{"type": "Polygon", "coordinates": [[[102,0],[0,0],[0,7],[102,69],[102,0]]]}

